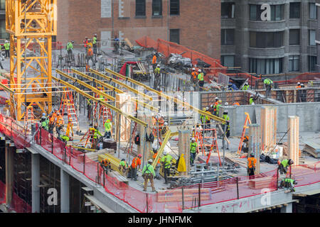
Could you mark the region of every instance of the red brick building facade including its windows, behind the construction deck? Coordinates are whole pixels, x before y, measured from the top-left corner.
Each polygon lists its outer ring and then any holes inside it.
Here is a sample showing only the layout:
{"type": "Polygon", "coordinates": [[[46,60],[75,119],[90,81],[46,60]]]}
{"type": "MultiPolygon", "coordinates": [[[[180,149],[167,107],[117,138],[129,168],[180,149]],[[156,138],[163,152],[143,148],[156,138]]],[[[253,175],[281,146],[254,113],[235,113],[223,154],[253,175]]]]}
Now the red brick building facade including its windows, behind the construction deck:
{"type": "Polygon", "coordinates": [[[58,1],[57,41],[85,36],[171,40],[220,59],[220,0],[58,1]]]}

